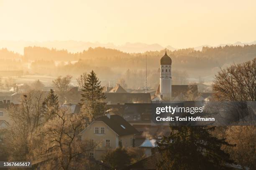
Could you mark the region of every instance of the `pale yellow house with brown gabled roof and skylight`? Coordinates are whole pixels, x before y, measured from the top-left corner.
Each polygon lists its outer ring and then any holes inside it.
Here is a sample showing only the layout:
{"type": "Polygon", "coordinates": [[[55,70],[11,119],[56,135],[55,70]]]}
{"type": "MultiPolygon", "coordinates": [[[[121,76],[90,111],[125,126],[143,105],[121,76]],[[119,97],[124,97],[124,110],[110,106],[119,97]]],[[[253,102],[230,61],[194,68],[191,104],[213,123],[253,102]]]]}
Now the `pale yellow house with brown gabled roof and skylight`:
{"type": "Polygon", "coordinates": [[[135,135],[138,134],[130,123],[119,115],[107,112],[98,117],[80,133],[81,140],[90,140],[97,146],[90,152],[90,157],[102,160],[108,150],[119,146],[128,148],[134,146],[135,135]]]}

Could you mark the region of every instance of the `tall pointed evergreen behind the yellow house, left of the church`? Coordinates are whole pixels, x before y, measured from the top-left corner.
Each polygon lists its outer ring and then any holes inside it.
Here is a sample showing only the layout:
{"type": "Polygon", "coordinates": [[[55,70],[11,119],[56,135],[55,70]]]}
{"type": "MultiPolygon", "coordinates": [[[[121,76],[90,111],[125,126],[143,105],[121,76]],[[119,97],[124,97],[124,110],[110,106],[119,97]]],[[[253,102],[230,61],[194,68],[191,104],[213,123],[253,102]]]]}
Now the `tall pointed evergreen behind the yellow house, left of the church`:
{"type": "Polygon", "coordinates": [[[104,99],[106,97],[103,93],[103,87],[101,87],[100,81],[93,70],[87,75],[82,92],[82,105],[86,105],[86,108],[90,110],[93,116],[92,119],[103,115],[105,111],[104,99]]]}

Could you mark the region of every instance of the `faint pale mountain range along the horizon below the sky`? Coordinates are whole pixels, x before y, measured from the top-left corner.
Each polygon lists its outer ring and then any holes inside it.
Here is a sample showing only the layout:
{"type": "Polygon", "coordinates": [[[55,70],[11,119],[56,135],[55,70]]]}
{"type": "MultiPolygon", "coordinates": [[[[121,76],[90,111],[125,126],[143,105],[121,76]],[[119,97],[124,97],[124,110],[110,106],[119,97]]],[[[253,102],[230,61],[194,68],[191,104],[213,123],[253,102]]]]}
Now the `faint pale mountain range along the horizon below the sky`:
{"type": "MultiPolygon", "coordinates": [[[[256,44],[256,41],[253,42],[236,42],[233,44],[220,44],[217,46],[225,46],[225,45],[252,45],[256,44]]],[[[159,45],[159,44],[145,44],[145,43],[131,43],[126,42],[124,45],[115,45],[113,43],[100,43],[100,42],[84,42],[84,41],[74,41],[74,40],[67,40],[67,41],[25,41],[25,40],[19,40],[19,41],[10,41],[10,40],[0,40],[0,48],[7,48],[8,50],[18,52],[20,54],[23,54],[24,47],[28,46],[40,46],[40,47],[47,47],[47,48],[56,48],[58,50],[68,50],[69,52],[81,52],[83,50],[87,50],[89,47],[95,48],[95,47],[105,47],[105,48],[111,48],[120,50],[123,52],[129,52],[129,53],[137,53],[137,52],[146,52],[146,51],[159,51],[163,50],[164,48],[167,48],[168,50],[174,51],[178,50],[178,48],[174,48],[171,45],[168,45],[166,47],[159,45]]],[[[215,47],[217,47],[215,46],[215,47]]],[[[202,47],[212,47],[210,45],[201,45],[198,47],[194,47],[195,50],[202,50],[202,47]]]]}

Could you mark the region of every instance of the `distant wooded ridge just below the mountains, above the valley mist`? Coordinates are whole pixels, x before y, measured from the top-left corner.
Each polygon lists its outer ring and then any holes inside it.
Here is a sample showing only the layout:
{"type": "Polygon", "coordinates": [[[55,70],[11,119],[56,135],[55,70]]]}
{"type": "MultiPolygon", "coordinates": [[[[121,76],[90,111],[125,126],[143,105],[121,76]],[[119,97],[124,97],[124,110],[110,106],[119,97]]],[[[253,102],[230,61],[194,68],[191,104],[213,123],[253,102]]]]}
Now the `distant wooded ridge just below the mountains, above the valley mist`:
{"type": "MultiPolygon", "coordinates": [[[[243,62],[256,56],[256,45],[203,47],[202,51],[193,48],[167,51],[175,66],[214,67],[225,63],[243,62]]],[[[92,65],[107,65],[144,68],[147,55],[148,66],[158,67],[156,63],[163,56],[164,50],[145,53],[125,53],[104,47],[89,48],[78,53],[67,50],[48,49],[45,47],[25,47],[24,57],[29,60],[72,61],[86,60],[92,65]]]]}

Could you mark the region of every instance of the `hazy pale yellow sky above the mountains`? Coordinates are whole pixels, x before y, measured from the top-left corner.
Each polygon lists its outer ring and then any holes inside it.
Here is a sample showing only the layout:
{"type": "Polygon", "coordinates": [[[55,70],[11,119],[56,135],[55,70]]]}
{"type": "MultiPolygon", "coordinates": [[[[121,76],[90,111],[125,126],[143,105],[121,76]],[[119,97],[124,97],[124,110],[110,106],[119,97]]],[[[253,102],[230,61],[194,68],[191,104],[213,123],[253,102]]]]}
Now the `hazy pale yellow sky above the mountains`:
{"type": "Polygon", "coordinates": [[[0,0],[0,40],[251,42],[256,0],[0,0]]]}

